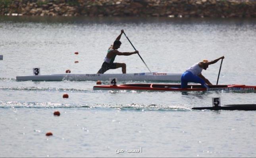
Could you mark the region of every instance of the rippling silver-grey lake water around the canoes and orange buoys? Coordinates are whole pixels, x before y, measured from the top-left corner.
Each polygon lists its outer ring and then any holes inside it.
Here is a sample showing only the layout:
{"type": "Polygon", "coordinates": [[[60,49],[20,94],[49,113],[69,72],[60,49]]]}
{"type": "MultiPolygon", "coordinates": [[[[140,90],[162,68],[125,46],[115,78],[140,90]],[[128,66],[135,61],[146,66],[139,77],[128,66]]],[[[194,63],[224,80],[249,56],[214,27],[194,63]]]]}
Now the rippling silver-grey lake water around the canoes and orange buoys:
{"type": "MultiPolygon", "coordinates": [[[[36,67],[96,73],[121,29],[151,71],[183,73],[224,55],[219,84],[256,85],[255,19],[0,17],[0,157],[255,157],[255,111],[191,110],[212,106],[213,97],[256,104],[253,92],[94,91],[93,81],[15,80],[36,67]]],[[[134,51],[125,36],[121,42],[119,51],[134,51]]],[[[127,73],[148,71],[138,55],[115,61],[127,73]]],[[[202,72],[213,84],[219,66],[202,72]]]]}

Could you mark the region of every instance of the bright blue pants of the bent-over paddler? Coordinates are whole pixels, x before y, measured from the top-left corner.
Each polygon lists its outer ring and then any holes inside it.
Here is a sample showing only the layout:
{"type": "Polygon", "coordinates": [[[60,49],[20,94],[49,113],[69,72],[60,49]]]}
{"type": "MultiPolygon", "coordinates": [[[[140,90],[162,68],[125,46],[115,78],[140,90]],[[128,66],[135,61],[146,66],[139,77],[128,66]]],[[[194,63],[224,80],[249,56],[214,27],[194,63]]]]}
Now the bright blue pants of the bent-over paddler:
{"type": "Polygon", "coordinates": [[[181,75],[181,88],[187,88],[189,82],[200,83],[204,88],[209,88],[203,79],[192,72],[186,71],[181,75]]]}

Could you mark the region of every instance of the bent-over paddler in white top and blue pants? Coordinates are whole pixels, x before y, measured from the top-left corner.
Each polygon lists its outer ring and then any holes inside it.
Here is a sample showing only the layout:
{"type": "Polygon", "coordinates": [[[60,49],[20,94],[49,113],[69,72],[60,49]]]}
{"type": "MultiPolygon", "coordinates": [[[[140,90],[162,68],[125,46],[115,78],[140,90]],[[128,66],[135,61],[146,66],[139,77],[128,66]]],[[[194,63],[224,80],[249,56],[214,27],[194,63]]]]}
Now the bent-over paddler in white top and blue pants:
{"type": "Polygon", "coordinates": [[[206,70],[209,65],[224,58],[224,56],[221,56],[220,58],[210,62],[208,60],[204,60],[192,65],[181,75],[181,88],[187,88],[189,82],[200,83],[204,88],[209,88],[208,85],[212,85],[212,83],[202,75],[202,70],[206,70]]]}

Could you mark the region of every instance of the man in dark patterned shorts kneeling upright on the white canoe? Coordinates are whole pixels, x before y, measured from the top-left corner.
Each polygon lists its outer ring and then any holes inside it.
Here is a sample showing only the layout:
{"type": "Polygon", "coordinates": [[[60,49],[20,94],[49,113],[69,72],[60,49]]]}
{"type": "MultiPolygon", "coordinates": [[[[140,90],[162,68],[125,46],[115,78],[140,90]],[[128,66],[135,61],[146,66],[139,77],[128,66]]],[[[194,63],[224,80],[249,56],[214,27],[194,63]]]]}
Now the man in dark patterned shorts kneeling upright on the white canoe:
{"type": "Polygon", "coordinates": [[[123,34],[123,30],[121,30],[121,34],[116,38],[116,40],[114,41],[114,44],[109,47],[108,53],[104,59],[104,62],[102,64],[100,70],[97,73],[104,73],[107,70],[117,69],[117,68],[122,68],[122,72],[126,73],[126,64],[114,62],[115,56],[116,55],[128,56],[128,55],[133,55],[133,54],[139,53],[139,51],[134,51],[134,52],[119,52],[119,51],[117,51],[117,49],[120,48],[120,46],[122,44],[120,41],[122,34],[123,34]]]}

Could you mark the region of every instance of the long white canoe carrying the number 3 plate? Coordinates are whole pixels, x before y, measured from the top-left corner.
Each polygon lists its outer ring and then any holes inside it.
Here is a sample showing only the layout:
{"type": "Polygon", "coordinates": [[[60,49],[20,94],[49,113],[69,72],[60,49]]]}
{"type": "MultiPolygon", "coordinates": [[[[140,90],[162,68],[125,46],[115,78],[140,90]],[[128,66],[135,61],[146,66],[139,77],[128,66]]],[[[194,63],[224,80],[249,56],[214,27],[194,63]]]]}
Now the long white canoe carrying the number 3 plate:
{"type": "Polygon", "coordinates": [[[16,76],[20,81],[109,81],[117,78],[117,81],[180,81],[182,73],[105,73],[105,74],[49,74],[49,75],[26,75],[16,76]]]}

